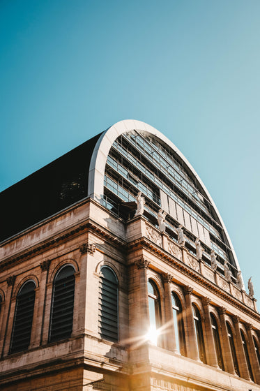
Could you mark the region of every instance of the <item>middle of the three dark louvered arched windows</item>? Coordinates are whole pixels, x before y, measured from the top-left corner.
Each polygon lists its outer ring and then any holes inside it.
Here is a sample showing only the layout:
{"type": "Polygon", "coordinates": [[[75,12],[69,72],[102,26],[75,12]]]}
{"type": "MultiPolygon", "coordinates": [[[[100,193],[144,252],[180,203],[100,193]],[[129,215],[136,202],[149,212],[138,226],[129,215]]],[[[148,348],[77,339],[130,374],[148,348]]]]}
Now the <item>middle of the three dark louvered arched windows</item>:
{"type": "Polygon", "coordinates": [[[73,326],[75,269],[62,267],[56,274],[52,290],[52,311],[49,323],[49,341],[70,337],[73,326]]]}

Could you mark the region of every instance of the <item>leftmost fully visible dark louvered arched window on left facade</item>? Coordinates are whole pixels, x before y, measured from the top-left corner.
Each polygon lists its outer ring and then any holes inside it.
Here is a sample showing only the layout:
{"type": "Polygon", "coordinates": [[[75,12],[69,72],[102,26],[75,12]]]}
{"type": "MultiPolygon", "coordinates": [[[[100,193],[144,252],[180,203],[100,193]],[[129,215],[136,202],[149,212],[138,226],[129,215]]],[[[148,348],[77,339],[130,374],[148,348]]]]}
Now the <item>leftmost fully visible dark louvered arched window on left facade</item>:
{"type": "Polygon", "coordinates": [[[30,280],[24,283],[18,292],[10,353],[25,351],[29,347],[31,341],[31,325],[33,323],[35,288],[36,284],[30,280]]]}

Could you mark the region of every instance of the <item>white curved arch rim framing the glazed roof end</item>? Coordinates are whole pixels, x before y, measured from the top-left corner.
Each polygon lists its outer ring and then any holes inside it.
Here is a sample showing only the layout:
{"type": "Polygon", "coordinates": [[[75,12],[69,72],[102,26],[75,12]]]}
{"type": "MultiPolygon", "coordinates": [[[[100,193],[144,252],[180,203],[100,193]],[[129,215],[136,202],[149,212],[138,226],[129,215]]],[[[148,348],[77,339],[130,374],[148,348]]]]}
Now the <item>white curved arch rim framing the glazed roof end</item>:
{"type": "Polygon", "coordinates": [[[88,196],[102,203],[103,193],[104,193],[105,165],[107,161],[107,155],[109,154],[109,150],[112,147],[113,142],[116,140],[116,138],[118,138],[118,136],[133,130],[147,132],[159,138],[160,140],[162,140],[162,142],[165,142],[166,145],[171,147],[171,149],[174,152],[176,152],[176,154],[180,156],[183,162],[188,166],[188,168],[190,169],[194,177],[196,177],[197,181],[201,185],[202,189],[204,189],[206,195],[208,196],[208,200],[211,201],[211,204],[215,209],[215,213],[220,219],[220,223],[222,225],[224,233],[227,236],[229,246],[234,255],[236,267],[238,268],[238,270],[240,270],[238,259],[236,258],[236,253],[234,251],[234,247],[231,243],[231,239],[229,238],[229,234],[227,233],[227,228],[224,226],[224,222],[222,221],[220,213],[218,212],[217,207],[215,206],[215,203],[211,198],[211,195],[208,193],[206,186],[204,186],[204,183],[201,181],[199,175],[197,175],[197,172],[194,170],[192,165],[188,162],[185,156],[183,156],[181,151],[178,150],[178,148],[174,145],[173,142],[171,142],[165,135],[160,133],[160,131],[153,128],[153,126],[146,124],[145,122],[137,121],[135,119],[125,119],[123,121],[116,122],[116,124],[112,125],[110,128],[108,128],[100,135],[100,138],[98,139],[98,142],[96,143],[95,148],[93,150],[91,163],[89,167],[88,196]]]}

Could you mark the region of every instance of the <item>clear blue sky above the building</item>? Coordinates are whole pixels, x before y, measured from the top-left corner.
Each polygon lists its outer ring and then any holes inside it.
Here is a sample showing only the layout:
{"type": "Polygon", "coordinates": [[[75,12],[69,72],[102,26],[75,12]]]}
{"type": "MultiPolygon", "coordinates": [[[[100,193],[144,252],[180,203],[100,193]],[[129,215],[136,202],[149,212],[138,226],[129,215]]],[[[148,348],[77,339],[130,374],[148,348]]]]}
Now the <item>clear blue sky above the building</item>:
{"type": "Polygon", "coordinates": [[[259,14],[259,0],[2,0],[0,191],[145,121],[194,166],[260,298],[259,14]]]}

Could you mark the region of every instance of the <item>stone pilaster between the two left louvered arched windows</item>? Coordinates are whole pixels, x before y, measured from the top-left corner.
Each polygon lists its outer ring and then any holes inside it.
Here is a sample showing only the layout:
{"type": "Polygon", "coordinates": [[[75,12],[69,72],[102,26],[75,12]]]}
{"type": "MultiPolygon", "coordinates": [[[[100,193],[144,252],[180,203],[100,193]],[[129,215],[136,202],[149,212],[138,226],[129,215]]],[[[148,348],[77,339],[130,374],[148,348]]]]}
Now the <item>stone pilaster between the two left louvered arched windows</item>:
{"type": "Polygon", "coordinates": [[[40,283],[39,288],[36,288],[36,299],[34,304],[33,325],[31,327],[31,344],[30,348],[40,346],[43,337],[43,319],[45,313],[46,300],[46,283],[49,274],[50,260],[44,260],[40,263],[40,283]]]}

